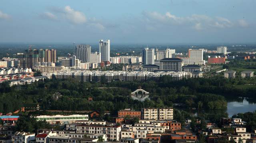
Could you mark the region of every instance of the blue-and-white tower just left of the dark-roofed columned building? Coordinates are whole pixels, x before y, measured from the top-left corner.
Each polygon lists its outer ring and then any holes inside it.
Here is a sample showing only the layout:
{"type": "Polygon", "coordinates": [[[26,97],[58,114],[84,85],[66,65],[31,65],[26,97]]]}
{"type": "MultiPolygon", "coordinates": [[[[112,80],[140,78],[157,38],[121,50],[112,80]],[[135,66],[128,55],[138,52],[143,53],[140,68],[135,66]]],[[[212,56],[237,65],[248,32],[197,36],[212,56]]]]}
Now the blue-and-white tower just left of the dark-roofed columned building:
{"type": "Polygon", "coordinates": [[[154,49],[145,48],[142,50],[142,63],[144,65],[154,65],[154,49]]]}

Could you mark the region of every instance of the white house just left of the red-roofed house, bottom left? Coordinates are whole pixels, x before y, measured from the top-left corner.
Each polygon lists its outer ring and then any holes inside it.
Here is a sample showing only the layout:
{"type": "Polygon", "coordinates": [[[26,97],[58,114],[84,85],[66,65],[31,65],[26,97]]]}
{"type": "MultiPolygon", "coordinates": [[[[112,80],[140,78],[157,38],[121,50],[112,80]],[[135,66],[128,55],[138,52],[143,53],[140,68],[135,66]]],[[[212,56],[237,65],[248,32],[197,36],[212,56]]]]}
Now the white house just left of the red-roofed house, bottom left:
{"type": "Polygon", "coordinates": [[[17,131],[12,135],[13,143],[29,143],[29,141],[35,139],[35,133],[26,133],[17,131]]]}

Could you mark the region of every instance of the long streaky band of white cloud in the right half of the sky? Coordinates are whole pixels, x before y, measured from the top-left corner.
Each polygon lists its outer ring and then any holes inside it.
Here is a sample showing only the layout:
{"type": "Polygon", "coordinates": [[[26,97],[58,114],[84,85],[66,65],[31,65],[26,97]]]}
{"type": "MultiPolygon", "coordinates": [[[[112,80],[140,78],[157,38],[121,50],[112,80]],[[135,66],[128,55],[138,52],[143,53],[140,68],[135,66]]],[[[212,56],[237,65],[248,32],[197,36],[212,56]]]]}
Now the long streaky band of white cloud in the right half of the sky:
{"type": "MultiPolygon", "coordinates": [[[[158,12],[144,12],[146,21],[152,24],[165,24],[165,25],[182,25],[194,27],[196,30],[209,29],[209,28],[229,28],[234,24],[227,18],[216,17],[211,18],[206,15],[192,14],[191,16],[178,17],[170,12],[160,14],[158,12]]],[[[242,24],[243,22],[241,22],[242,24]]]]}

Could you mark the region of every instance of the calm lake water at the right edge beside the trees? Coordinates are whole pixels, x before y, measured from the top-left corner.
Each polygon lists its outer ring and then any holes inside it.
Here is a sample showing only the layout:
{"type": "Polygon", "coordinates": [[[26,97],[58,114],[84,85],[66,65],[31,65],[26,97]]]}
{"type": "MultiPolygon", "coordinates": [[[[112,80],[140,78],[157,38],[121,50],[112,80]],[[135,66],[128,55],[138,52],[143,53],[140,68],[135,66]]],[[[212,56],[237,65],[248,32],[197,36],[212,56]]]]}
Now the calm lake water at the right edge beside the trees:
{"type": "Polygon", "coordinates": [[[249,103],[246,99],[242,102],[228,102],[227,113],[229,117],[237,113],[253,112],[254,110],[256,110],[256,104],[249,103]]]}

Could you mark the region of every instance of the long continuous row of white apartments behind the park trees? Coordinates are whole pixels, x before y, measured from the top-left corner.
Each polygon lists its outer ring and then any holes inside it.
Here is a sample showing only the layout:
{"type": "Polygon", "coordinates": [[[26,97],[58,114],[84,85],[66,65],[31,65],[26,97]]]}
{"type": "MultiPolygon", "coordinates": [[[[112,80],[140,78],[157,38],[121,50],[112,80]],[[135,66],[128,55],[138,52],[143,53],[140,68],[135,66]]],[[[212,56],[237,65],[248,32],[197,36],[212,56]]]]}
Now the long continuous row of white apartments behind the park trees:
{"type": "Polygon", "coordinates": [[[182,78],[190,78],[191,74],[188,72],[177,71],[61,71],[48,74],[49,78],[58,79],[72,79],[75,78],[83,82],[100,82],[104,77],[108,82],[112,81],[146,81],[155,80],[158,81],[161,76],[172,76],[174,80],[180,80],[182,78]]]}

